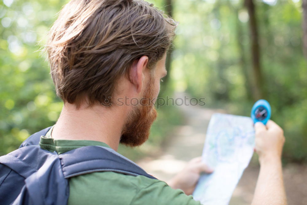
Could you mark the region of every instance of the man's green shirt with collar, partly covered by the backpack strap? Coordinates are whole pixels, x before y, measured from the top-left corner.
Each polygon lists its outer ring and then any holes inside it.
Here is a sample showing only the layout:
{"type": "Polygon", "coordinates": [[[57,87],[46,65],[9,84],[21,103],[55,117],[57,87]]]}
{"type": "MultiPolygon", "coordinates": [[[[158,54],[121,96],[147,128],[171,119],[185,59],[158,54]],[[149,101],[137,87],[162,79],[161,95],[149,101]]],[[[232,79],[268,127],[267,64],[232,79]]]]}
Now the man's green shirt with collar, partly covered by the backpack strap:
{"type": "MultiPolygon", "coordinates": [[[[52,127],[53,128],[53,127],[52,127]]],[[[41,136],[41,148],[64,153],[83,146],[104,146],[106,143],[91,140],[52,139],[51,131],[41,136]]],[[[110,148],[110,147],[109,147],[110,148]]],[[[131,176],[116,172],[94,172],[69,178],[68,204],[188,204],[200,205],[192,195],[172,189],[165,182],[145,176],[131,176]]]]}

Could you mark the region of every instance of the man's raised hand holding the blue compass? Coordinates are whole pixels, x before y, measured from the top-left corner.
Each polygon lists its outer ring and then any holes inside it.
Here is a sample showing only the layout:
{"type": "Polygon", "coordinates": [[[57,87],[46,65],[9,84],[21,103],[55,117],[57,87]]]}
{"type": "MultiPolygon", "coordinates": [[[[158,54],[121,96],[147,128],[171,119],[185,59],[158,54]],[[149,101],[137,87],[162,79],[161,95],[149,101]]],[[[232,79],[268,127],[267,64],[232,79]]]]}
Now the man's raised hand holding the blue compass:
{"type": "Polygon", "coordinates": [[[267,158],[281,158],[282,147],[285,142],[284,132],[272,120],[266,123],[255,123],[255,150],[259,155],[259,161],[267,158]]]}

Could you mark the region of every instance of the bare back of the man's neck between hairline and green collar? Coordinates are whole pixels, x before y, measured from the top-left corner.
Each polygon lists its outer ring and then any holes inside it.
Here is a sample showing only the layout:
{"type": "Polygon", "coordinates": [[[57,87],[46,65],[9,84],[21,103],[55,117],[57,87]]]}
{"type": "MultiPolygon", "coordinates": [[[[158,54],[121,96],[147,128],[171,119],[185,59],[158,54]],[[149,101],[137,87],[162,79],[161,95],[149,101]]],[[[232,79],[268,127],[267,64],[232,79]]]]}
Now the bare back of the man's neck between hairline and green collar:
{"type": "Polygon", "coordinates": [[[121,108],[94,105],[76,110],[74,105],[65,103],[52,138],[100,141],[117,151],[126,117],[121,108]]]}

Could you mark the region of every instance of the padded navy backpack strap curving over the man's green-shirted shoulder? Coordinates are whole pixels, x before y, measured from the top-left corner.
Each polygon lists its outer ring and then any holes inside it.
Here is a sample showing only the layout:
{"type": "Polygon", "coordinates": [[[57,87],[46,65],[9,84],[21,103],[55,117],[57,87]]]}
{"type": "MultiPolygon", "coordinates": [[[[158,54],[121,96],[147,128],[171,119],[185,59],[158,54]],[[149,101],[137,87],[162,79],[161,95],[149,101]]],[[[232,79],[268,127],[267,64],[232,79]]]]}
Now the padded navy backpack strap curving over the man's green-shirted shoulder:
{"type": "Polygon", "coordinates": [[[59,155],[64,177],[88,174],[99,171],[114,171],[126,175],[149,175],[136,163],[108,147],[86,146],[59,155]]]}

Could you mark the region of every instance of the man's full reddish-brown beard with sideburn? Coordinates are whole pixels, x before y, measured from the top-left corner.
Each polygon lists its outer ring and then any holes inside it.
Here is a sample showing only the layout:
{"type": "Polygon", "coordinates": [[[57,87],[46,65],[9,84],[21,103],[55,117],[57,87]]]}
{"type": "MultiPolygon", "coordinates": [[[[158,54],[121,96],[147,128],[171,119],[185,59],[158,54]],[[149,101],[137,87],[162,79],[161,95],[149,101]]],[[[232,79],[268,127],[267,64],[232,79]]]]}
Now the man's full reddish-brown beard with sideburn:
{"type": "Polygon", "coordinates": [[[151,104],[154,98],[154,78],[146,86],[144,96],[139,105],[130,112],[128,122],[122,131],[120,143],[130,147],[140,146],[149,137],[150,127],[157,118],[157,111],[151,104]]]}

